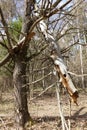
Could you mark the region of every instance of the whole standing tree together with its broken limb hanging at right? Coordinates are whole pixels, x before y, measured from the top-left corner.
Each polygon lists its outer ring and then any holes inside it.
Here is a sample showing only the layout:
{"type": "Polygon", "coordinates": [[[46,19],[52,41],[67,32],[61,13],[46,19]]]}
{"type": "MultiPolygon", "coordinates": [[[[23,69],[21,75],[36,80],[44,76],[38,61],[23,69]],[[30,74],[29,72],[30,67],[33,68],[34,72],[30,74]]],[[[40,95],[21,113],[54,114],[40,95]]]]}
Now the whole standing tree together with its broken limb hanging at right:
{"type": "MultiPolygon", "coordinates": [[[[51,18],[55,14],[62,14],[61,18],[66,15],[70,15],[71,8],[68,7],[72,0],[68,0],[65,3],[62,3],[62,0],[26,0],[25,1],[25,14],[23,19],[23,26],[20,33],[19,42],[15,45],[13,44],[13,39],[9,32],[9,26],[6,23],[6,20],[3,15],[3,10],[0,7],[0,17],[1,17],[1,26],[6,35],[6,43],[4,42],[4,36],[2,35],[2,40],[0,45],[7,50],[7,55],[0,61],[0,67],[5,65],[10,59],[14,61],[14,71],[13,71],[13,84],[14,84],[14,95],[15,95],[15,113],[17,123],[24,127],[25,124],[31,121],[31,117],[28,111],[27,104],[27,80],[26,80],[26,66],[27,61],[31,58],[37,56],[43,51],[46,46],[42,45],[41,50],[37,53],[33,53],[30,57],[27,57],[28,48],[31,39],[35,34],[34,28],[36,25],[39,26],[40,31],[45,37],[47,46],[50,48],[50,59],[52,59],[55,71],[60,78],[60,82],[67,89],[68,93],[71,96],[71,99],[77,104],[78,92],[75,88],[69,74],[67,67],[64,64],[61,50],[59,45],[56,42],[56,39],[53,37],[53,33],[48,29],[47,22],[48,18],[51,18]],[[69,10],[66,10],[66,7],[69,10]]],[[[72,7],[72,6],[71,6],[72,7]]],[[[2,32],[1,32],[2,33],[2,32]]]]}

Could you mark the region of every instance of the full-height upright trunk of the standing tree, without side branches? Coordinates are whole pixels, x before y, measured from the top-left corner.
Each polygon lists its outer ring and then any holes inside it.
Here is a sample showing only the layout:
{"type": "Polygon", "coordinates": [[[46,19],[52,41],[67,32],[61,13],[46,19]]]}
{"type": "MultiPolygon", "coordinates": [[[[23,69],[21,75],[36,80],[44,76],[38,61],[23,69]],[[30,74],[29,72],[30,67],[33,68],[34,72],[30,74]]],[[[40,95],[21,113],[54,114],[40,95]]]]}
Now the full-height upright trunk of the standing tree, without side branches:
{"type": "MultiPolygon", "coordinates": [[[[28,35],[29,29],[33,24],[31,17],[32,7],[34,5],[34,0],[26,0],[24,23],[22,26],[22,32],[28,35]]],[[[23,38],[20,35],[20,40],[23,38]]],[[[30,41],[30,40],[29,40],[30,41]]],[[[13,82],[14,82],[14,94],[15,94],[15,112],[16,112],[16,122],[19,126],[25,127],[26,123],[31,120],[30,114],[28,112],[28,102],[27,102],[27,90],[28,86],[26,80],[26,57],[29,41],[17,52],[14,52],[14,62],[15,68],[13,72],[13,82]]]]}

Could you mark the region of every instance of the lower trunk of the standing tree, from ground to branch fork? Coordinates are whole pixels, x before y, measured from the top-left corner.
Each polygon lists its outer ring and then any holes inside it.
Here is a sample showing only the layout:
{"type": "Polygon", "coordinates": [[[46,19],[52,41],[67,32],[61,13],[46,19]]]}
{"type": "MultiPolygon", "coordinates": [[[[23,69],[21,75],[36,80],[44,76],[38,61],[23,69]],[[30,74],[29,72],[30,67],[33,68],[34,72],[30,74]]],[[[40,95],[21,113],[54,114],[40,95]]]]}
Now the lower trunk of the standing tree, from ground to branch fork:
{"type": "Polygon", "coordinates": [[[16,121],[22,127],[31,119],[27,105],[25,56],[26,51],[25,53],[23,52],[15,56],[15,68],[13,73],[16,121]]]}

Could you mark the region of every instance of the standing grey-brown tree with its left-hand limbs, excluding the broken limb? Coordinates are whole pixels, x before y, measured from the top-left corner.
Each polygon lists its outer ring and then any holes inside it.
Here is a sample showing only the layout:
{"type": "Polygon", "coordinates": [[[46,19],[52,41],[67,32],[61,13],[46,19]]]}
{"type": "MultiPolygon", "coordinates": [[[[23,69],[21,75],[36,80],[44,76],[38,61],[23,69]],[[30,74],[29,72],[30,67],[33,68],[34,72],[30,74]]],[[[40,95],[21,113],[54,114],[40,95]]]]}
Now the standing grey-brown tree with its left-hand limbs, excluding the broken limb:
{"type": "MultiPolygon", "coordinates": [[[[31,11],[33,7],[32,1],[26,1],[26,15],[24,18],[24,24],[22,27],[23,33],[27,34],[29,33],[29,28],[32,26],[33,21],[31,19],[31,11]],[[30,15],[29,15],[30,14],[30,15]],[[25,23],[26,21],[26,23],[25,23]]],[[[28,42],[29,40],[26,39],[25,45],[18,45],[18,47],[13,47],[12,41],[10,39],[9,30],[7,27],[7,23],[4,19],[2,9],[0,8],[0,14],[2,18],[3,26],[5,27],[5,33],[7,34],[7,41],[8,41],[8,51],[9,53],[5,57],[3,61],[0,62],[0,65],[3,65],[6,63],[10,58],[13,58],[15,62],[14,72],[13,72],[13,82],[14,82],[14,90],[15,90],[15,111],[16,111],[16,121],[19,122],[20,126],[25,125],[25,123],[29,120],[30,114],[28,112],[28,106],[27,106],[27,86],[26,86],[26,55],[27,55],[27,49],[28,49],[28,42]],[[23,48],[22,48],[23,47],[23,48]]],[[[22,35],[20,35],[20,39],[22,38],[22,35]]],[[[31,38],[31,37],[30,37],[31,38]]],[[[4,43],[3,43],[4,45],[4,43]]]]}

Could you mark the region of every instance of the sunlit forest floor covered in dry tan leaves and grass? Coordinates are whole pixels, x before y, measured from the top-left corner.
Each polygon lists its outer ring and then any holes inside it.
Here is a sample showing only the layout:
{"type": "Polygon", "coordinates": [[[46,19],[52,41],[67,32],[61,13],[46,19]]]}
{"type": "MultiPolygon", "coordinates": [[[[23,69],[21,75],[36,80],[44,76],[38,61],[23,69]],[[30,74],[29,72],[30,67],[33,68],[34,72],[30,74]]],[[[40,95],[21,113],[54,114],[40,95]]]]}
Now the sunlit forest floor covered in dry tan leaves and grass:
{"type": "MultiPolygon", "coordinates": [[[[72,103],[71,116],[68,95],[61,95],[63,114],[70,130],[87,130],[87,93],[80,92],[78,106],[72,103]]],[[[29,111],[35,123],[28,130],[62,130],[56,94],[44,94],[29,101],[29,111]]],[[[13,92],[2,93],[0,98],[0,130],[18,130],[14,125],[13,92]]],[[[20,129],[19,129],[20,130],[20,129]]]]}

